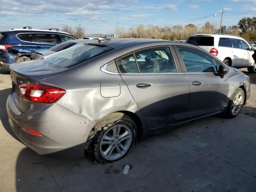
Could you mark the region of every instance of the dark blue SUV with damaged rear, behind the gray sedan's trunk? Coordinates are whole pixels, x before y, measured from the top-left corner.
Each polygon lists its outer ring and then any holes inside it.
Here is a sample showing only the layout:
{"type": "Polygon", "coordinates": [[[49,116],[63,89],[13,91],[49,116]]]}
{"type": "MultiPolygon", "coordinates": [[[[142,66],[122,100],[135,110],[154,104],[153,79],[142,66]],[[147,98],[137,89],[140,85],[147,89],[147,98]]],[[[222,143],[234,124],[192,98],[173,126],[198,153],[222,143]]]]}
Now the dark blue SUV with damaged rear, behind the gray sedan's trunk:
{"type": "Polygon", "coordinates": [[[0,69],[10,70],[10,64],[30,60],[33,51],[52,48],[76,37],[58,29],[32,30],[31,27],[0,32],[0,69]]]}

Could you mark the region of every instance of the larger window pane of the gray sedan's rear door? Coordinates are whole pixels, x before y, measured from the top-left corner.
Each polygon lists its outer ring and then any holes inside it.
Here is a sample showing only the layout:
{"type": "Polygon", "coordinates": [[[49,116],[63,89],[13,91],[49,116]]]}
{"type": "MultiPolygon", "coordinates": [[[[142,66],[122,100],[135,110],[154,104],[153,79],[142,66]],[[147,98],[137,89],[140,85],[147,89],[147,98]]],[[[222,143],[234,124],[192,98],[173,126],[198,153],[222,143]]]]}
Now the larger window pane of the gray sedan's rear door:
{"type": "Polygon", "coordinates": [[[176,66],[170,49],[158,47],[135,53],[141,73],[176,73],[176,66]]]}

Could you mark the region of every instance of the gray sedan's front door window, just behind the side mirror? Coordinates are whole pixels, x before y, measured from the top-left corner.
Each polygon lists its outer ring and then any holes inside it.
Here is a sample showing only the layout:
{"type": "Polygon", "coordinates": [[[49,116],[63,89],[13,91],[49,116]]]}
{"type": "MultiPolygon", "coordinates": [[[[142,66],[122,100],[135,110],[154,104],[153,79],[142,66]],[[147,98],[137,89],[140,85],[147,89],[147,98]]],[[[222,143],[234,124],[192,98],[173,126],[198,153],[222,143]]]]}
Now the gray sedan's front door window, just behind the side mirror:
{"type": "Polygon", "coordinates": [[[198,50],[177,47],[188,73],[216,72],[216,66],[212,57],[198,50]]]}

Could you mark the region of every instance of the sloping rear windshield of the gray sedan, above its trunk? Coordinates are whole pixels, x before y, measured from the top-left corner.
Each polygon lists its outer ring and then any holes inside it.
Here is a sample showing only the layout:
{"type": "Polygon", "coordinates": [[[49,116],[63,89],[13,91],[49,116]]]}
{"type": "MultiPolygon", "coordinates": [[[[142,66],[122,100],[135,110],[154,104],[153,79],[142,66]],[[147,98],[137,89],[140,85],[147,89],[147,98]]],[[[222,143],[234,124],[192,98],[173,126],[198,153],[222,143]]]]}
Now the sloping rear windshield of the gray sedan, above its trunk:
{"type": "Polygon", "coordinates": [[[111,50],[113,48],[79,44],[44,58],[43,64],[53,67],[70,68],[111,50]]]}

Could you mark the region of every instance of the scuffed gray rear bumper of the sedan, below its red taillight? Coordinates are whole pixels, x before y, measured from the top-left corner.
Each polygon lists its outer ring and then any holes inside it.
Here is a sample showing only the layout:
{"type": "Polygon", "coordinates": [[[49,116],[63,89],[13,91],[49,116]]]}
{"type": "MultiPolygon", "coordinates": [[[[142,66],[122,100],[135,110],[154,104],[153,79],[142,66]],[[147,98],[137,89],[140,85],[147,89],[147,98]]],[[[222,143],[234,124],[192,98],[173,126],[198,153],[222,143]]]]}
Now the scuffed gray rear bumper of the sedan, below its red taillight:
{"type": "Polygon", "coordinates": [[[84,156],[86,140],[96,122],[92,122],[58,104],[41,110],[20,112],[12,91],[6,108],[10,126],[18,138],[38,154],[69,157],[84,156]],[[36,130],[42,136],[24,130],[36,130]]]}

